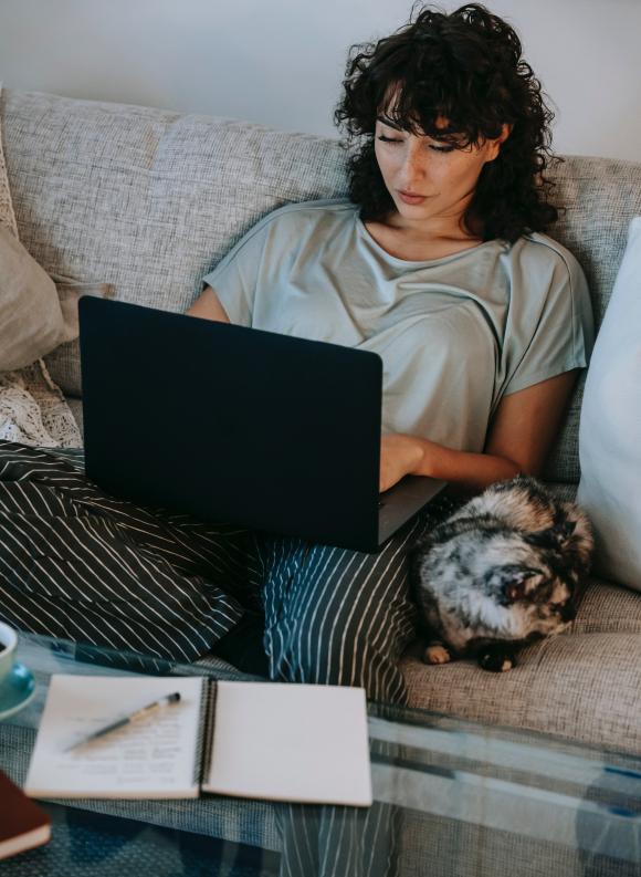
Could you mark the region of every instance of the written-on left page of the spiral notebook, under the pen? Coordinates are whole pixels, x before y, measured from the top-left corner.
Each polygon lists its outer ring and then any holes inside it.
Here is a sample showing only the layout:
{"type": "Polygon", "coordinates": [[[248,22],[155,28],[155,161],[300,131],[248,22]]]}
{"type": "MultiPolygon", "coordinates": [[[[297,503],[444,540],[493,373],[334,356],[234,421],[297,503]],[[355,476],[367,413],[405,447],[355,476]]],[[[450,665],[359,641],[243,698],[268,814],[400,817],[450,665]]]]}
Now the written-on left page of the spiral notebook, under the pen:
{"type": "Polygon", "coordinates": [[[51,677],[24,791],[33,797],[197,797],[201,677],[51,677]],[[78,747],[93,731],[180,693],[144,719],[78,747]]]}

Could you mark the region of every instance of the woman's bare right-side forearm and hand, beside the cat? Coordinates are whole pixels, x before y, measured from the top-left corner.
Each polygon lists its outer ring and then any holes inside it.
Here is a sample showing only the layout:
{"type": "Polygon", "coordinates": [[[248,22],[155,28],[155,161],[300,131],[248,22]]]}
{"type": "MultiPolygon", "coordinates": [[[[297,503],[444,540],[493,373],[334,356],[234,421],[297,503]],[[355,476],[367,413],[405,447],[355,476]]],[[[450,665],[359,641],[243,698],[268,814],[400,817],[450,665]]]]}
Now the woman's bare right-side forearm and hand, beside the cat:
{"type": "Polygon", "coordinates": [[[505,396],[490,424],[483,453],[451,450],[418,436],[383,436],[380,490],[410,473],[449,481],[454,492],[483,490],[518,472],[540,474],[578,373],[575,368],[505,396]]]}

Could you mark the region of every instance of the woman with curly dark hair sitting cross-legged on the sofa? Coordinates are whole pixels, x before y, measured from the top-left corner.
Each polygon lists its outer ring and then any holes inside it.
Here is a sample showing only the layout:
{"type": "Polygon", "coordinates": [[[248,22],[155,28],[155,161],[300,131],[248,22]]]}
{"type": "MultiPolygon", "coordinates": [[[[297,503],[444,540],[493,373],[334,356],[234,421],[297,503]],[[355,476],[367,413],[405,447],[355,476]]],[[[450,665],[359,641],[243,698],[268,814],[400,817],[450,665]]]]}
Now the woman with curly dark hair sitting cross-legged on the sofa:
{"type": "MultiPolygon", "coordinates": [[[[537,474],[592,343],[582,272],[540,233],[550,118],[505,22],[423,10],[348,64],[350,198],[265,217],[188,313],[380,353],[381,490],[410,472],[463,493],[537,474]]],[[[367,555],[115,502],[78,453],[6,443],[0,479],[8,622],[254,669],[266,655],[273,679],[407,699],[406,553],[446,498],[367,555]],[[22,574],[34,542],[51,554],[22,574]]]]}

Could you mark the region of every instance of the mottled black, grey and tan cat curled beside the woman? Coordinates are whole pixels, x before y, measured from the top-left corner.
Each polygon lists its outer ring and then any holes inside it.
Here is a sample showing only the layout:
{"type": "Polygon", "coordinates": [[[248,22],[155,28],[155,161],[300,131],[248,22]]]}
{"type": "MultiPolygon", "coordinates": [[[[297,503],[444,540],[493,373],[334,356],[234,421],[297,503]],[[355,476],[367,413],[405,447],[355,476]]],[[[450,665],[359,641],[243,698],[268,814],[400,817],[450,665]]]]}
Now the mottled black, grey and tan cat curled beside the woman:
{"type": "Polygon", "coordinates": [[[537,479],[490,486],[410,550],[428,635],[423,660],[475,656],[485,670],[509,670],[521,648],[575,618],[592,551],[585,512],[537,479]]]}

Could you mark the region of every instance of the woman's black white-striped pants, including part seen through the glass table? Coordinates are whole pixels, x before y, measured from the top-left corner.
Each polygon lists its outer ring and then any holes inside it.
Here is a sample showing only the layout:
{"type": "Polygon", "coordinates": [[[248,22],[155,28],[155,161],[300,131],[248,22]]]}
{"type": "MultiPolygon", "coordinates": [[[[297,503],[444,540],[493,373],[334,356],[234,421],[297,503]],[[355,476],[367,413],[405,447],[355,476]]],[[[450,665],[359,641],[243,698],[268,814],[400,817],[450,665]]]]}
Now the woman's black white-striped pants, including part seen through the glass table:
{"type": "MultiPolygon", "coordinates": [[[[0,441],[0,619],[190,661],[255,613],[272,679],[402,703],[417,625],[407,551],[452,508],[438,500],[365,554],[135,505],[86,479],[82,450],[0,441]]],[[[311,822],[308,807],[277,807],[283,877],[396,873],[400,811],[315,810],[311,822]]]]}

